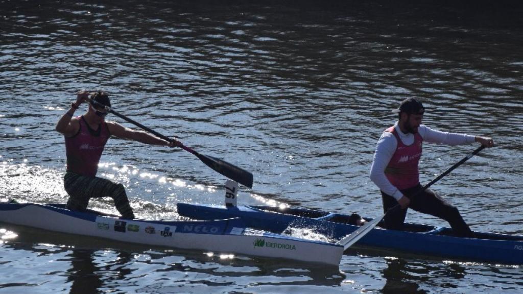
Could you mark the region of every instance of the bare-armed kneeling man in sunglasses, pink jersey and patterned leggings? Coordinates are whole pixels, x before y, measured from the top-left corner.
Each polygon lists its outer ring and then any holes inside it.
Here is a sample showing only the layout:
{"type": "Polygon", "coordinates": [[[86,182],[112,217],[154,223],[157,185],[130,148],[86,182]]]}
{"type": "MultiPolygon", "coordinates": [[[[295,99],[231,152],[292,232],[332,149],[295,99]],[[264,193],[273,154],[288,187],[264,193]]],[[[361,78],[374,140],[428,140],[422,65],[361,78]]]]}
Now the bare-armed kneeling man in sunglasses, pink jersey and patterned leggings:
{"type": "Polygon", "coordinates": [[[83,211],[87,208],[91,198],[111,197],[115,200],[116,209],[123,218],[134,219],[134,213],[123,185],[96,176],[98,162],[107,140],[111,136],[115,136],[168,147],[174,147],[179,142],[174,140],[173,143],[169,143],[150,133],[132,130],[117,122],[106,121],[105,117],[108,112],[98,104],[111,107],[111,103],[109,95],[101,91],[92,93],[90,99],[96,103],[88,103],[85,114],[75,117],[75,110],[88,101],[87,97],[89,97],[87,91],[78,92],[76,101],[56,123],[55,128],[65,138],[67,170],[64,176],[64,187],[69,194],[67,208],[83,211]]]}

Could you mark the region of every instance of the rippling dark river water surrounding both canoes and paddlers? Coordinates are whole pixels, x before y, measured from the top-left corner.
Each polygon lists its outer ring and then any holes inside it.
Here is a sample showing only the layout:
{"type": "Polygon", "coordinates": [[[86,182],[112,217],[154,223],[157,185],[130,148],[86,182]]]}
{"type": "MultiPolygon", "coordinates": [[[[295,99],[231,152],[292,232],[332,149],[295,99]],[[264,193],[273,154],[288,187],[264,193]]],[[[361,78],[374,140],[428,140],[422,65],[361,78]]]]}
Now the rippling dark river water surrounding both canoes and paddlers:
{"type": "MultiPolygon", "coordinates": [[[[429,127],[496,142],[433,189],[473,230],[523,234],[523,9],[454,2],[0,0],[0,200],[66,201],[54,126],[85,88],[251,171],[241,204],[377,217],[374,147],[391,110],[417,97],[429,127]]],[[[422,183],[475,148],[426,144],[422,183]]],[[[223,201],[225,178],[180,149],[111,139],[98,173],[127,188],[141,218],[223,201]]],[[[89,206],[116,212],[108,199],[89,206]]],[[[413,211],[407,221],[448,225],[413,211]]],[[[0,235],[2,294],[523,291],[521,266],[357,246],[332,272],[7,224],[0,235]]]]}

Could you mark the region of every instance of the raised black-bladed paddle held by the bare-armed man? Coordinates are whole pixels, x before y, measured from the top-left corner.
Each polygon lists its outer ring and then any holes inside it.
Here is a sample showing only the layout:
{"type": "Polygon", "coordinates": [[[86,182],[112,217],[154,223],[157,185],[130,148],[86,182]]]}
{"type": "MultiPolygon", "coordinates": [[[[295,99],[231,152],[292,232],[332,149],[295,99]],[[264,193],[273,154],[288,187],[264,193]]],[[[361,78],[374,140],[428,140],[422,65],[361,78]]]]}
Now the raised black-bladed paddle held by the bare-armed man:
{"type": "MultiPolygon", "coordinates": [[[[116,115],[117,117],[120,117],[124,120],[127,120],[128,122],[132,123],[133,125],[141,128],[147,132],[150,132],[150,133],[156,135],[157,137],[164,139],[165,141],[174,142],[173,139],[165,137],[161,133],[158,133],[150,128],[145,127],[144,125],[142,125],[141,123],[139,123],[137,121],[134,121],[124,115],[119,114],[115,110],[112,110],[111,107],[100,104],[97,101],[92,100],[90,98],[87,98],[87,100],[89,101],[89,103],[93,103],[93,104],[96,104],[96,106],[103,107],[106,111],[110,112],[111,114],[116,115]]],[[[189,153],[196,155],[204,164],[206,164],[210,168],[214,169],[214,171],[217,171],[218,173],[220,173],[232,180],[235,180],[236,182],[238,182],[246,187],[249,187],[249,188],[253,187],[253,174],[250,172],[247,172],[245,169],[237,167],[237,166],[230,164],[228,162],[225,162],[221,159],[217,159],[216,157],[198,153],[198,152],[190,149],[189,147],[184,146],[183,144],[178,145],[178,147],[189,153]]]]}

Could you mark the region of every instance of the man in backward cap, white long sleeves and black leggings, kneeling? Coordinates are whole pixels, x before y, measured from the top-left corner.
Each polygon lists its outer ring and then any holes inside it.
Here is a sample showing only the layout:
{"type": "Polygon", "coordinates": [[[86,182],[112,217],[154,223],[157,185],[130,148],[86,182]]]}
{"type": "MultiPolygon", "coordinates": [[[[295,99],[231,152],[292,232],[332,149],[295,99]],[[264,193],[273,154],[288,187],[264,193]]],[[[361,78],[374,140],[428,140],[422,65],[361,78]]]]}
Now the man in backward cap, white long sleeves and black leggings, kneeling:
{"type": "Polygon", "coordinates": [[[422,125],[425,109],[414,98],[403,100],[395,111],[398,112],[398,121],[381,135],[370,170],[372,182],[381,190],[384,211],[398,203],[401,205],[401,209],[386,214],[385,227],[401,230],[410,207],[448,221],[459,236],[472,236],[458,209],[433,191],[426,189],[412,197],[423,188],[419,184],[419,158],[424,141],[451,146],[479,142],[489,148],[494,146],[494,141],[487,137],[441,132],[422,125]]]}

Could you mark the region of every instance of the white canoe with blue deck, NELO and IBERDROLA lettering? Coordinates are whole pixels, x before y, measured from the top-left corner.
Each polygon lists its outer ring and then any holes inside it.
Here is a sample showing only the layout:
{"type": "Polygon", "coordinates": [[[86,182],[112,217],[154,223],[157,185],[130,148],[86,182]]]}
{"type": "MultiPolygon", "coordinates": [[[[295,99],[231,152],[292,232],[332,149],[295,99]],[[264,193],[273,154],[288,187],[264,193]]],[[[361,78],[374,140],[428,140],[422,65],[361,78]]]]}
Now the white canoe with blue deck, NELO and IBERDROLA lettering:
{"type": "Polygon", "coordinates": [[[63,205],[0,203],[0,222],[122,242],[286,258],[338,266],[343,246],[291,236],[246,232],[240,219],[211,221],[127,220],[63,205]]]}

